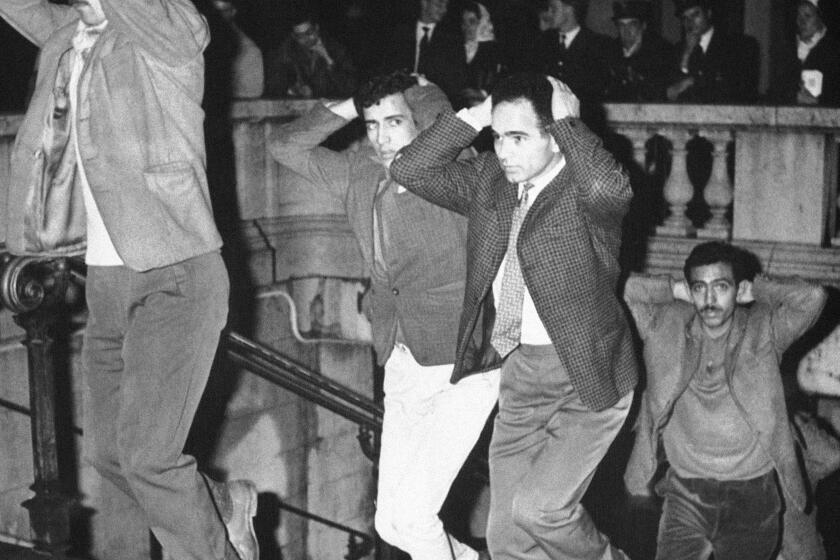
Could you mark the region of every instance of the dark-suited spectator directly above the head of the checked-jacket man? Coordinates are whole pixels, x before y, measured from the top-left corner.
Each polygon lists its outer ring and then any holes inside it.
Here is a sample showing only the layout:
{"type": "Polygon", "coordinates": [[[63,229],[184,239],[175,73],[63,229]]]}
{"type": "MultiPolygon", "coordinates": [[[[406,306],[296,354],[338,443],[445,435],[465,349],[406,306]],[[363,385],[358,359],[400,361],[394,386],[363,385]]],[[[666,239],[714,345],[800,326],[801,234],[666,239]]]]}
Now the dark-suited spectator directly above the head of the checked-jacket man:
{"type": "Polygon", "coordinates": [[[552,26],[537,40],[531,64],[568,85],[583,105],[600,101],[609,75],[610,39],[585,27],[589,0],[548,0],[547,6],[552,26]]]}

